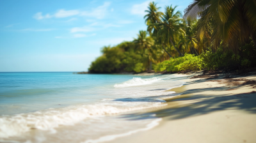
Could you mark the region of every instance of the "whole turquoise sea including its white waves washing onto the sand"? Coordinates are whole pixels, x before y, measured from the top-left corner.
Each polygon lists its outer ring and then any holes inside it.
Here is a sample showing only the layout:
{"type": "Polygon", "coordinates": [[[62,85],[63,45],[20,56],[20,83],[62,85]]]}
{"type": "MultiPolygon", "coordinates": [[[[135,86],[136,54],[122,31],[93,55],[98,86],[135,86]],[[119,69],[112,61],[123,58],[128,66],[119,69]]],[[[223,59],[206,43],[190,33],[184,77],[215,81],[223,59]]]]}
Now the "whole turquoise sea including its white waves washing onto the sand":
{"type": "Polygon", "coordinates": [[[145,109],[179,96],[184,75],[0,72],[0,142],[106,142],[159,124],[145,109]],[[139,117],[138,117],[139,116],[139,117]]]}

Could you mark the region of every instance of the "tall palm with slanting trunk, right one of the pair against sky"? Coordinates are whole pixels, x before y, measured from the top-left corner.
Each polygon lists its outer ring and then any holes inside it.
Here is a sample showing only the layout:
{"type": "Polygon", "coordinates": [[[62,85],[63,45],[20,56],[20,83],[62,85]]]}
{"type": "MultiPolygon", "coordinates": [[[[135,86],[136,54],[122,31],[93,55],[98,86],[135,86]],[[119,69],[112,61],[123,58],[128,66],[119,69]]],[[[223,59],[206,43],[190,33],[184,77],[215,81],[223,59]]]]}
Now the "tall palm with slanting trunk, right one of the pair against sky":
{"type": "Polygon", "coordinates": [[[182,17],[182,14],[180,13],[180,11],[176,11],[175,13],[175,8],[177,8],[177,6],[175,6],[174,8],[172,8],[172,5],[166,6],[162,22],[157,24],[157,27],[159,27],[157,36],[161,36],[162,40],[165,40],[167,42],[167,45],[169,45],[170,41],[170,43],[179,53],[179,55],[184,56],[175,46],[175,38],[179,37],[179,34],[185,33],[181,29],[182,24],[180,23],[183,20],[180,19],[180,17],[182,17]]]}

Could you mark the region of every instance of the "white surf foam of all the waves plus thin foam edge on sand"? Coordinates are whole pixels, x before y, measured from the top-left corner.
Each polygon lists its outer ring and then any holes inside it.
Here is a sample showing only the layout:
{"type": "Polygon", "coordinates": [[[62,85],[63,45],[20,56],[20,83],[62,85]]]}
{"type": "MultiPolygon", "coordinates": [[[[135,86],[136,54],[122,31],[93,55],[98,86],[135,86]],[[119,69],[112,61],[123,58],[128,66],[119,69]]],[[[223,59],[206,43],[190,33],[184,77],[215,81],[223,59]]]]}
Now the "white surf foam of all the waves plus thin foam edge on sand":
{"type": "MultiPolygon", "coordinates": [[[[168,80],[167,76],[164,76],[164,78],[141,79],[135,77],[122,84],[115,84],[115,88],[104,90],[104,93],[99,94],[99,96],[104,96],[104,98],[95,103],[73,105],[61,109],[47,109],[28,114],[0,116],[0,139],[21,136],[22,133],[29,132],[35,128],[54,132],[58,126],[74,125],[81,123],[81,121],[87,121],[88,119],[94,119],[95,117],[107,114],[119,114],[131,110],[163,106],[165,102],[163,98],[177,96],[177,94],[173,94],[175,92],[166,90],[182,86],[180,82],[168,80]],[[167,80],[164,78],[167,78],[167,80]],[[161,82],[159,82],[160,80],[161,82]]],[[[143,129],[134,128],[136,130],[130,130],[131,132],[120,135],[104,135],[103,137],[92,139],[90,142],[112,140],[140,130],[148,130],[154,126],[148,125],[147,128],[143,129]]],[[[86,142],[89,142],[89,140],[86,142]]]]}

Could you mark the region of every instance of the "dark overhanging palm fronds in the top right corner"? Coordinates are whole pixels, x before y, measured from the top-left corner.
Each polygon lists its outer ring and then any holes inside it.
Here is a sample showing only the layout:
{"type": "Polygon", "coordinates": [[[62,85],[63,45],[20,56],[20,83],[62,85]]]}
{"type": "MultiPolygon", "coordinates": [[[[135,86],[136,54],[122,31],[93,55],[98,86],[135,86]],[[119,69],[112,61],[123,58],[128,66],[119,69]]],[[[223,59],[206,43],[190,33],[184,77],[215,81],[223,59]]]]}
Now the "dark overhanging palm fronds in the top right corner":
{"type": "Polygon", "coordinates": [[[198,20],[198,37],[202,39],[211,26],[211,41],[215,49],[224,45],[236,52],[239,43],[252,38],[256,45],[255,0],[194,0],[185,10],[184,19],[198,20]]]}

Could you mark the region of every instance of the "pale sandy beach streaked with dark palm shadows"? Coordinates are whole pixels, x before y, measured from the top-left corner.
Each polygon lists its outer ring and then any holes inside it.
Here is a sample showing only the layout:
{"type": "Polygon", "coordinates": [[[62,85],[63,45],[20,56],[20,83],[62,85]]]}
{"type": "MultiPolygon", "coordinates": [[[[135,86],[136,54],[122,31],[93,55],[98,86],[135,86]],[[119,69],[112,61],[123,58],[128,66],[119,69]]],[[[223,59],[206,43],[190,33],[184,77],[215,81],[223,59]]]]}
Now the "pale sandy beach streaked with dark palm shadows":
{"type": "Polygon", "coordinates": [[[184,79],[186,85],[171,89],[182,95],[147,111],[162,117],[158,126],[109,142],[256,142],[256,86],[250,80],[256,76],[184,79]]]}

